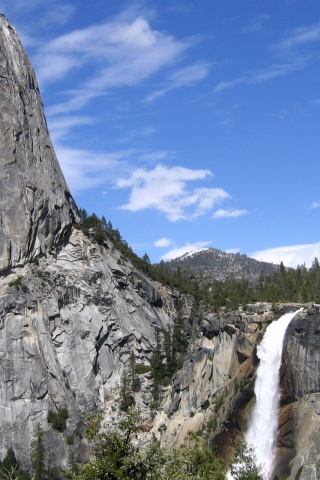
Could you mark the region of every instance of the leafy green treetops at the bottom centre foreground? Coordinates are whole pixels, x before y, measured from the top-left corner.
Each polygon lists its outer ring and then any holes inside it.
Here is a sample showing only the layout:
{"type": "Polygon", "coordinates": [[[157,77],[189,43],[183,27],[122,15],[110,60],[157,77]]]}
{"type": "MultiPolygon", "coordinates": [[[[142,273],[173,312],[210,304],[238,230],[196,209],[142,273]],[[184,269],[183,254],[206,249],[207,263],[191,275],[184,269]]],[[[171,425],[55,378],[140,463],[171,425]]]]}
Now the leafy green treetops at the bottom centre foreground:
{"type": "MultiPolygon", "coordinates": [[[[201,448],[196,437],[181,449],[162,449],[152,438],[140,450],[136,435],[143,432],[144,420],[137,410],[129,409],[111,432],[99,430],[100,419],[89,423],[86,438],[93,456],[86,464],[67,473],[72,480],[224,480],[222,463],[212,451],[201,448]]],[[[191,434],[192,435],[192,434],[191,434]]]]}

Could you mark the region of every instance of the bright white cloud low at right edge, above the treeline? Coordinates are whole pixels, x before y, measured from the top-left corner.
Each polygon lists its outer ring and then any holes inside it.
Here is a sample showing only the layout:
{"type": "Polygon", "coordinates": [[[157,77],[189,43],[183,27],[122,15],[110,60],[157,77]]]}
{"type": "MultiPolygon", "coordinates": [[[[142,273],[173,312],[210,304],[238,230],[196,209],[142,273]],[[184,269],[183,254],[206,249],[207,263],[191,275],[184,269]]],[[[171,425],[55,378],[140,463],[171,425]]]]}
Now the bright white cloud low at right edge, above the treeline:
{"type": "Polygon", "coordinates": [[[320,242],[306,245],[291,245],[287,247],[275,247],[267,250],[260,250],[249,254],[250,257],[264,262],[283,264],[287,267],[296,267],[306,264],[312,265],[315,257],[320,259],[320,242]]]}

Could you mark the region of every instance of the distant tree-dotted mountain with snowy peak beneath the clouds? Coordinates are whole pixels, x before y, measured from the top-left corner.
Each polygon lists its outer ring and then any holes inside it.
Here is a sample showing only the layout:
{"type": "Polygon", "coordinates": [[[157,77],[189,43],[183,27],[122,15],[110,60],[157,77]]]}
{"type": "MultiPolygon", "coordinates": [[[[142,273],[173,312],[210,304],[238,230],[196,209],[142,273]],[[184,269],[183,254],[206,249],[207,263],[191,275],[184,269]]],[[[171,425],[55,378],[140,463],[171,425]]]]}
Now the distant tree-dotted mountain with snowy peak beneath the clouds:
{"type": "Polygon", "coordinates": [[[255,282],[262,274],[269,274],[279,267],[272,263],[259,262],[247,255],[226,253],[215,248],[207,248],[194,253],[187,253],[179,258],[166,262],[169,268],[189,269],[204,282],[224,281],[233,276],[255,282]]]}

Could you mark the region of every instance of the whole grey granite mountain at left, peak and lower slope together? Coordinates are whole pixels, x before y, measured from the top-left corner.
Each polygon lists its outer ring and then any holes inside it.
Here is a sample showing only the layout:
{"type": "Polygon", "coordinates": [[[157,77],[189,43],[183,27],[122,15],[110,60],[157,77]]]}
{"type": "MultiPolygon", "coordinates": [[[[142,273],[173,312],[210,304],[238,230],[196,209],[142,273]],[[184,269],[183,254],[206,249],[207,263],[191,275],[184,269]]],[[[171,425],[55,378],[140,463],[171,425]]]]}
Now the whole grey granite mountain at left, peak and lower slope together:
{"type": "Polygon", "coordinates": [[[70,451],[85,453],[83,413],[104,409],[113,421],[130,354],[148,362],[154,330],[171,324],[174,306],[111,243],[98,246],[73,228],[77,208],[35,74],[3,15],[0,69],[0,460],[13,447],[29,466],[39,423],[54,462],[66,467],[70,451]],[[62,408],[59,432],[47,414],[62,408]]]}

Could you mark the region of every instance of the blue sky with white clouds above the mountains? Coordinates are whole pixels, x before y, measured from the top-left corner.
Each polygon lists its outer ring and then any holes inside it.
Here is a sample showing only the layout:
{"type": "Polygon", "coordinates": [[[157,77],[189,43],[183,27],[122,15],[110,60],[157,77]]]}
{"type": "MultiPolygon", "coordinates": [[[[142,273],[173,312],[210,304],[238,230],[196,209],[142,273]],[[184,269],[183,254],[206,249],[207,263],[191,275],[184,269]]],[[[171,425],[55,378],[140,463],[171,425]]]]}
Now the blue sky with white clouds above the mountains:
{"type": "Polygon", "coordinates": [[[320,2],[0,0],[79,207],[153,262],[320,258],[320,2]]]}

